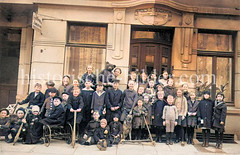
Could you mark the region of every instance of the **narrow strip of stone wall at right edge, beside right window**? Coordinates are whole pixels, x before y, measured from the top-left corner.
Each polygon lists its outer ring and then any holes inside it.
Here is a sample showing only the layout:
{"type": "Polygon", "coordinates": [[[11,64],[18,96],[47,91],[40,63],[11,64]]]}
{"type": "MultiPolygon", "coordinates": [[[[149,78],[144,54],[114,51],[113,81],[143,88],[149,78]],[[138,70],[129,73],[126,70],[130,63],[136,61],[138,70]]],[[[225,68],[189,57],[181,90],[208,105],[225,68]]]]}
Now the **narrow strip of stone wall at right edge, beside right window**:
{"type": "Polygon", "coordinates": [[[236,51],[235,51],[235,91],[234,91],[234,104],[236,108],[240,108],[240,31],[237,33],[236,38],[236,51]]]}

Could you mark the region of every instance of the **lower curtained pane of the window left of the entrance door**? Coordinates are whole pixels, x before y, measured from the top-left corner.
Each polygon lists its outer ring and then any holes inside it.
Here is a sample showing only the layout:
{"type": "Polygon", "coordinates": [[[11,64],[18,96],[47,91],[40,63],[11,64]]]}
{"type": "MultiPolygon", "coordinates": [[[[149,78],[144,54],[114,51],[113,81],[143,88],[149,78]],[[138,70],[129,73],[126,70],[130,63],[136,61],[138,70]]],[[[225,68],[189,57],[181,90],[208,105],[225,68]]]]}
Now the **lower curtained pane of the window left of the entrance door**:
{"type": "Polygon", "coordinates": [[[87,65],[92,65],[96,74],[105,66],[105,49],[67,47],[65,74],[81,78],[86,72],[87,65]]]}

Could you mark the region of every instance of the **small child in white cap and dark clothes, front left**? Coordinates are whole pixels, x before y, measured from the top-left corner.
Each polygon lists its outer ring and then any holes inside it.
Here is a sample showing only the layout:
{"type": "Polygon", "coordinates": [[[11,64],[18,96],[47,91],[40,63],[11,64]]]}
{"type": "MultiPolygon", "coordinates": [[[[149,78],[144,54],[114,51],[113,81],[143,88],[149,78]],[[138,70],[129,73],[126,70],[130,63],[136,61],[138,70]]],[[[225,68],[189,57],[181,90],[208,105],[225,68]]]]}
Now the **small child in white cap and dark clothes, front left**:
{"type": "Polygon", "coordinates": [[[30,112],[27,116],[28,130],[25,144],[43,143],[40,141],[43,134],[43,127],[39,122],[41,119],[39,111],[40,108],[37,105],[32,106],[32,112],[30,112]]]}

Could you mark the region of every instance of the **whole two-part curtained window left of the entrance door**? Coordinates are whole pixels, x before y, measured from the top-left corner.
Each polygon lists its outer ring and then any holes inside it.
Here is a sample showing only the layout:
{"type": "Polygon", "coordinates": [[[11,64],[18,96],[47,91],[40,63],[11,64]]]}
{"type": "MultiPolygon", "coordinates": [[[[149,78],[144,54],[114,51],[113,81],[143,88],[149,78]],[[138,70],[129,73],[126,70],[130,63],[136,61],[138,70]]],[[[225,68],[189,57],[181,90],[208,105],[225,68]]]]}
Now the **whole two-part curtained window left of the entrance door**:
{"type": "Polygon", "coordinates": [[[68,26],[64,73],[81,78],[88,65],[99,74],[105,66],[106,25],[73,24],[68,26]]]}

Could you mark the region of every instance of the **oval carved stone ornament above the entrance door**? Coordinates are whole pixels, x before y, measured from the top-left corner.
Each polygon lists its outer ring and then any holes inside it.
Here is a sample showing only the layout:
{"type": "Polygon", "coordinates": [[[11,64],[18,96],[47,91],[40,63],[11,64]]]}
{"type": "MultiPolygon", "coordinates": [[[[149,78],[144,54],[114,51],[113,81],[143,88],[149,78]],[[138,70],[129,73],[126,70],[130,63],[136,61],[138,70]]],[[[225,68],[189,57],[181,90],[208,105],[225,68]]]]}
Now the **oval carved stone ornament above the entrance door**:
{"type": "Polygon", "coordinates": [[[172,20],[172,13],[162,8],[146,8],[135,11],[135,19],[144,25],[164,25],[172,20]]]}

